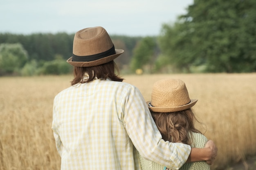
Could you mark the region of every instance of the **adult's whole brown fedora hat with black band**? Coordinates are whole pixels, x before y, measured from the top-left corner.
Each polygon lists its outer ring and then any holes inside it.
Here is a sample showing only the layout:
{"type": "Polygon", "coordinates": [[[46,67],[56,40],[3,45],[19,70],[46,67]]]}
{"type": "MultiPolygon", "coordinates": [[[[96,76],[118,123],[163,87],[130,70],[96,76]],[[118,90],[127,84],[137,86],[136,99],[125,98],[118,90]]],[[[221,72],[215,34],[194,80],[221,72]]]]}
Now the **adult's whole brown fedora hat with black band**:
{"type": "Polygon", "coordinates": [[[96,26],[76,32],[73,55],[67,62],[76,67],[98,66],[114,60],[122,53],[124,50],[115,49],[107,31],[96,26]]]}

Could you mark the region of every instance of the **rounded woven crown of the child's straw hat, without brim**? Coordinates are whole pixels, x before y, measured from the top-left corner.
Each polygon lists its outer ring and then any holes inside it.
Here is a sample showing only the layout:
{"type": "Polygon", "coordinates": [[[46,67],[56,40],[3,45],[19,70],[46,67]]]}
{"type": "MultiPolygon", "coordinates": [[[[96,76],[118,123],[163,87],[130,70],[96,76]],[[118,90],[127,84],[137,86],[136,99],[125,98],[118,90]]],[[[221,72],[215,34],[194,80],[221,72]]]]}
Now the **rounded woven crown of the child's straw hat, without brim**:
{"type": "Polygon", "coordinates": [[[180,79],[162,79],[151,93],[153,107],[179,107],[191,102],[185,83],[180,79]]]}

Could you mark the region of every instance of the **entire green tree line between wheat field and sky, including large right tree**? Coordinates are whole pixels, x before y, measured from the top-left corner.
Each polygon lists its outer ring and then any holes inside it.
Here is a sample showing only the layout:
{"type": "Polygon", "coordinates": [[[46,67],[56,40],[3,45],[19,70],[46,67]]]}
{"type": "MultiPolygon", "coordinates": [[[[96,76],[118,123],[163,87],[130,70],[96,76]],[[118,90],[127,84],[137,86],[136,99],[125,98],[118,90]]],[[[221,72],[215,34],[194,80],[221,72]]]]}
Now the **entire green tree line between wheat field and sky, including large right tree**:
{"type": "MultiPolygon", "coordinates": [[[[110,35],[125,53],[124,73],[250,73],[256,71],[256,1],[194,0],[158,36],[110,35]]],[[[0,33],[0,75],[65,74],[74,34],[0,33]]]]}

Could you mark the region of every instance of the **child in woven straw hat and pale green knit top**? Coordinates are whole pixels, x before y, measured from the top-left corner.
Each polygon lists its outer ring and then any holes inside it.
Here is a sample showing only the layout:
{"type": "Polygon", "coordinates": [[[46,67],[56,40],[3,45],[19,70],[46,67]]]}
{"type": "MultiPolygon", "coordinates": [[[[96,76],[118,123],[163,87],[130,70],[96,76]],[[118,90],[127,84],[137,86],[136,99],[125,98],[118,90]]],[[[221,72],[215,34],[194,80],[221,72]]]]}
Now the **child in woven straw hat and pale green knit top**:
{"type": "MultiPolygon", "coordinates": [[[[198,99],[190,99],[185,83],[180,79],[162,79],[153,85],[148,108],[165,141],[204,148],[207,138],[195,128],[197,121],[191,107],[198,99]]],[[[142,170],[168,170],[139,155],[142,170]]],[[[180,170],[210,170],[206,161],[185,163],[180,170]]]]}

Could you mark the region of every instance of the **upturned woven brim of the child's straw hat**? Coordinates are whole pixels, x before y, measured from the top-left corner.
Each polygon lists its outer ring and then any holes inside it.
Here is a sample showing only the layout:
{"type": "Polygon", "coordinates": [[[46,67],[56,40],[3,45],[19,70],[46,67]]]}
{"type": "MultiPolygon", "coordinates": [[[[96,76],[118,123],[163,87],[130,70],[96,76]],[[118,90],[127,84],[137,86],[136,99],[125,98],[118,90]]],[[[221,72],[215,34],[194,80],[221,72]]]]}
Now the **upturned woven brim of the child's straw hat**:
{"type": "Polygon", "coordinates": [[[186,110],[188,108],[191,108],[195,105],[195,103],[198,101],[198,99],[190,99],[190,102],[188,104],[182,105],[182,106],[175,106],[175,107],[153,107],[149,106],[151,101],[147,102],[148,108],[153,112],[161,112],[161,113],[168,113],[168,112],[177,112],[181,110],[186,110]]]}

